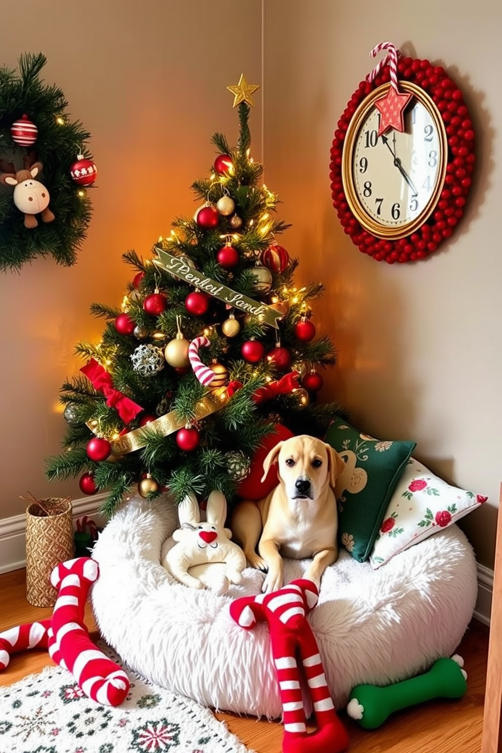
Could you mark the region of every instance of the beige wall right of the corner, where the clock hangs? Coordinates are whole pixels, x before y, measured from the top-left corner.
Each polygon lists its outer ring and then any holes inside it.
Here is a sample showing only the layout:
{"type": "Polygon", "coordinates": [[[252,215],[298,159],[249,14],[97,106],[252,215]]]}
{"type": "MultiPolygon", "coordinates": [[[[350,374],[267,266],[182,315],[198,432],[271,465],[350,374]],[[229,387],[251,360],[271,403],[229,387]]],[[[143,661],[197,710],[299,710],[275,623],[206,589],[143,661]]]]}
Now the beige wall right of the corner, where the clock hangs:
{"type": "Polygon", "coordinates": [[[306,262],[300,275],[324,279],[316,320],[339,348],[323,397],[339,397],[367,431],[415,439],[434,471],[489,495],[462,524],[488,566],[502,478],[501,21],[497,0],[266,0],[264,24],[266,181],[294,222],[287,246],[306,262]],[[342,232],[328,177],[336,122],[385,40],[447,67],[478,155],[450,242],[427,261],[390,267],[342,232]]]}

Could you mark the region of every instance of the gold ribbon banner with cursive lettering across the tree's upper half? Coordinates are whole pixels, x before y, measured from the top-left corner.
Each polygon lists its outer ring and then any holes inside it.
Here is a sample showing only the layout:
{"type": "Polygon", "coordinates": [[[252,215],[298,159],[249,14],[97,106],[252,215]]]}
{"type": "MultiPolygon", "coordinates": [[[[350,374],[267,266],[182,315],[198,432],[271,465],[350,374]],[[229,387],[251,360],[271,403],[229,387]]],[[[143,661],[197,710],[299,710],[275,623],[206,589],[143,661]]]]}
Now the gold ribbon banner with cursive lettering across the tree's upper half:
{"type": "Polygon", "coordinates": [[[256,300],[242,295],[242,293],[236,293],[232,288],[227,288],[227,285],[222,285],[221,282],[216,282],[211,277],[204,277],[197,272],[195,267],[190,267],[190,264],[187,264],[185,259],[168,254],[162,248],[159,248],[158,245],[154,246],[154,250],[159,255],[158,259],[153,260],[157,267],[166,270],[166,272],[184,280],[184,282],[188,282],[189,285],[194,285],[199,290],[213,295],[218,300],[223,300],[229,306],[239,309],[242,313],[256,316],[263,324],[278,329],[277,320],[282,319],[284,316],[281,312],[275,311],[271,306],[266,306],[265,303],[258,303],[256,300]]]}

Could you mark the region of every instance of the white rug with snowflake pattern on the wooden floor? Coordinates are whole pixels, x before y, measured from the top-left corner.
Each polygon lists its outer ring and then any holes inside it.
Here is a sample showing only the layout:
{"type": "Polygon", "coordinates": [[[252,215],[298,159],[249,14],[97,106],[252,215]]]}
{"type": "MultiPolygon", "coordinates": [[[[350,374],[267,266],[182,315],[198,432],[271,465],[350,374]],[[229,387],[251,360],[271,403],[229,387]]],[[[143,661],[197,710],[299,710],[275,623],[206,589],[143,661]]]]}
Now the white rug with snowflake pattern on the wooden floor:
{"type": "Polygon", "coordinates": [[[131,689],[116,708],[84,696],[59,666],[0,688],[0,751],[248,753],[208,709],[128,674],[131,689]]]}

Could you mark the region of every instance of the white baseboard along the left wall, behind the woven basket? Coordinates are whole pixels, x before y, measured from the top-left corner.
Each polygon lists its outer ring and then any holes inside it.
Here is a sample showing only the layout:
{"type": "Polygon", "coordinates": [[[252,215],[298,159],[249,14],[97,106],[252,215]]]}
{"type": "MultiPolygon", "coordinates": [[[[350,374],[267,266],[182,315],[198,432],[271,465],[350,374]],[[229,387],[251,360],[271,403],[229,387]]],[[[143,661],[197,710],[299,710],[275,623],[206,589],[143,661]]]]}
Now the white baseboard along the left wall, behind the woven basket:
{"type": "MultiPolygon", "coordinates": [[[[71,500],[73,520],[87,515],[96,523],[99,520],[98,509],[105,494],[71,500]]],[[[19,570],[26,566],[26,516],[13,515],[0,519],[0,573],[19,570]]]]}

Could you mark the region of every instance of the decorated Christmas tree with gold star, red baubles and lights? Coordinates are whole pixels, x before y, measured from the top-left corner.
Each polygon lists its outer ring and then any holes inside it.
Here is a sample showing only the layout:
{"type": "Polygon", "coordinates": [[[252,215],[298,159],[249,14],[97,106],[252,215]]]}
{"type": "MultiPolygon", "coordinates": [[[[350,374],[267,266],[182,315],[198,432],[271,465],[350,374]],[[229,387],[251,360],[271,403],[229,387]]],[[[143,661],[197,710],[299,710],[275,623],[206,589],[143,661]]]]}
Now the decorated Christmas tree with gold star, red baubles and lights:
{"type": "Polygon", "coordinates": [[[320,369],[336,360],[312,316],[322,285],[295,287],[298,261],[277,242],[289,226],[251,157],[257,87],[242,75],[228,89],[239,107],[236,147],[215,133],[214,166],[192,186],[195,216],[175,218],[151,258],[123,255],[132,281],[122,304],[93,303],[106,320],[102,340],[78,343],[86,363],[61,388],[68,431],[47,475],[108,492],[106,514],[135,487],[152,499],[169,490],[175,501],[213,489],[229,501],[245,495],[267,437],[322,437],[338,408],[316,400],[320,369]]]}

